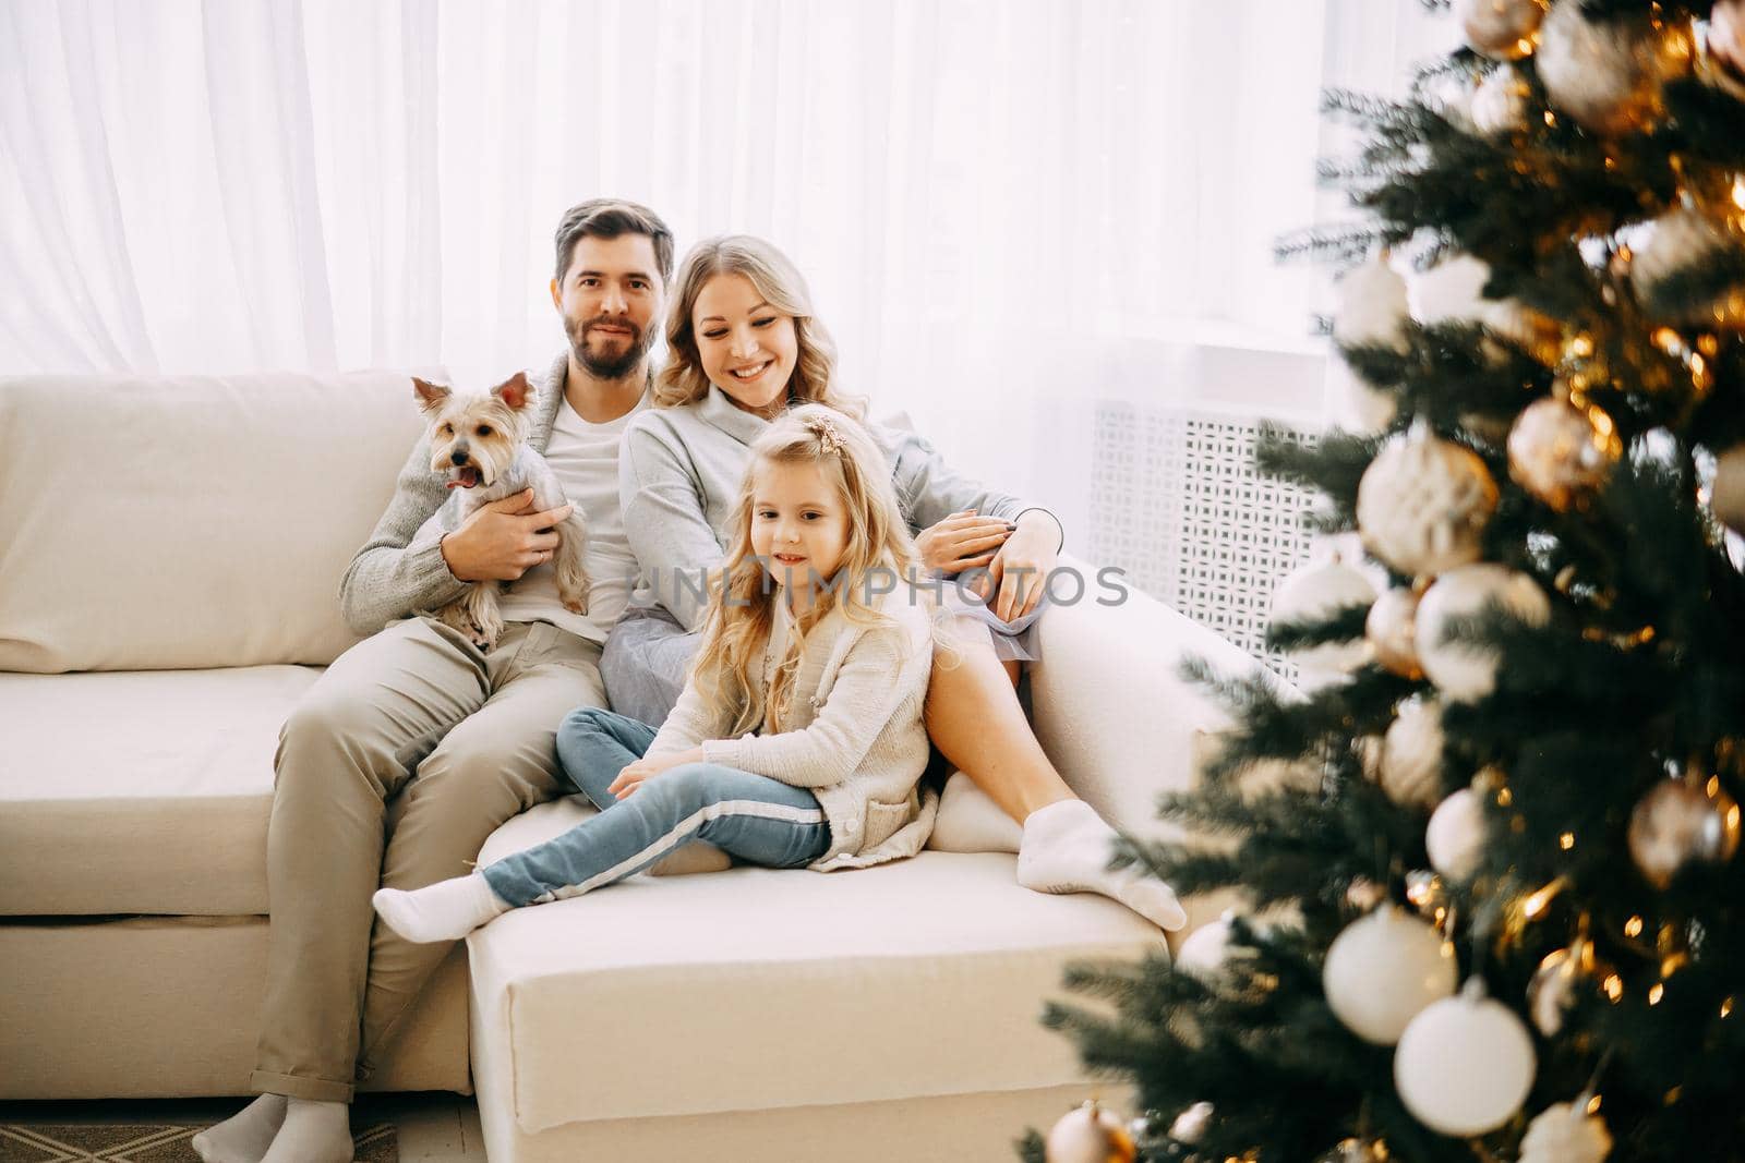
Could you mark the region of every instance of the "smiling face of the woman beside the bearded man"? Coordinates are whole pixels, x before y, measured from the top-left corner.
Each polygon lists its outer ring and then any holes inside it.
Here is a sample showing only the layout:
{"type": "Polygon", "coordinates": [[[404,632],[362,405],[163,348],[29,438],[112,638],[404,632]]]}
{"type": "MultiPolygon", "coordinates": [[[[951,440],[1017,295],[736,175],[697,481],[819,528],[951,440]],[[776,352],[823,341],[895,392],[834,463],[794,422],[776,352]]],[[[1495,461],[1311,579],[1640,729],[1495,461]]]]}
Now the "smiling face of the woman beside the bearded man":
{"type": "Polygon", "coordinates": [[[794,316],[763,300],[742,274],[717,274],[691,309],[696,354],[708,382],[745,411],[770,420],[787,408],[787,382],[799,359],[794,316]]]}

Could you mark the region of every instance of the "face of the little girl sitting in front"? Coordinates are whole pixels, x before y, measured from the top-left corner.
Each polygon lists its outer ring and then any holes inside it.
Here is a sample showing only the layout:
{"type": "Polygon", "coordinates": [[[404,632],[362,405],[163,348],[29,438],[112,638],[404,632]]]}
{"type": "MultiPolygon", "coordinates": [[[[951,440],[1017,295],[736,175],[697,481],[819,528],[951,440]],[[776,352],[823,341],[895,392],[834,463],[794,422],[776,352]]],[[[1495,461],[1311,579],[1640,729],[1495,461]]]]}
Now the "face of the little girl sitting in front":
{"type": "Polygon", "coordinates": [[[768,563],[796,610],[811,605],[848,551],[848,511],[817,464],[757,466],[752,478],[752,553],[768,563]]]}

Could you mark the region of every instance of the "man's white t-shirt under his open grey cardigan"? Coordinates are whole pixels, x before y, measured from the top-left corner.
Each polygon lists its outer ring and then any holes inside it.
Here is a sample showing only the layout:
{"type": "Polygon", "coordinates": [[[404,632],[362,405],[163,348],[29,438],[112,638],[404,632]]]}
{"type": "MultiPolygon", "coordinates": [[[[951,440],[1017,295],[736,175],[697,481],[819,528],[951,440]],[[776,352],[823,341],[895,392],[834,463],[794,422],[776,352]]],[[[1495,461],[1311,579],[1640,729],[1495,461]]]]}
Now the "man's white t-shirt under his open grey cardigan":
{"type": "Polygon", "coordinates": [[[557,406],[546,462],[557,473],[564,495],[588,523],[586,567],[592,588],[588,612],[571,614],[557,600],[551,563],[536,565],[510,586],[497,609],[506,622],[551,622],[588,642],[606,642],[606,633],[625,612],[637,579],[637,560],[625,539],[625,514],[618,502],[618,445],[630,417],[649,406],[647,392],[637,406],[606,424],[588,424],[565,398],[557,406]]]}

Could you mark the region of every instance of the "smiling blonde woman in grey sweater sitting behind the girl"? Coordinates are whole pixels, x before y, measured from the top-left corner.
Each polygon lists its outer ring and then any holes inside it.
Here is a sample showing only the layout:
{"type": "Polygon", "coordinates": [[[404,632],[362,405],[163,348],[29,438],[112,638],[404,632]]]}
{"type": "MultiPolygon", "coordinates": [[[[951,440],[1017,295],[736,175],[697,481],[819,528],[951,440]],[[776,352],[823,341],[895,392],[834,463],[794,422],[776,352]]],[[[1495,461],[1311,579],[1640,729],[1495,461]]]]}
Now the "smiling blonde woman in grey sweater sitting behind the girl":
{"type": "MultiPolygon", "coordinates": [[[[632,420],[619,452],[625,528],[651,593],[612,629],[600,661],[612,706],[649,724],[667,717],[684,687],[708,570],[724,558],[750,445],[794,403],[857,420],[866,413],[834,382],[836,350],[804,279],[763,239],[708,239],[686,256],[667,349],[656,406],[632,420]]],[[[1187,917],[1167,886],[1138,868],[1108,872],[1113,832],[1061,779],[1017,701],[1021,659],[1030,657],[1024,636],[1061,547],[1059,523],[953,473],[914,434],[874,432],[923,565],[948,575],[986,570],[989,621],[1002,622],[995,633],[958,635],[951,663],[934,666],[934,746],[1023,825],[1021,884],[1101,893],[1153,924],[1180,928],[1187,917]]],[[[944,588],[948,598],[955,591],[944,588]]]]}

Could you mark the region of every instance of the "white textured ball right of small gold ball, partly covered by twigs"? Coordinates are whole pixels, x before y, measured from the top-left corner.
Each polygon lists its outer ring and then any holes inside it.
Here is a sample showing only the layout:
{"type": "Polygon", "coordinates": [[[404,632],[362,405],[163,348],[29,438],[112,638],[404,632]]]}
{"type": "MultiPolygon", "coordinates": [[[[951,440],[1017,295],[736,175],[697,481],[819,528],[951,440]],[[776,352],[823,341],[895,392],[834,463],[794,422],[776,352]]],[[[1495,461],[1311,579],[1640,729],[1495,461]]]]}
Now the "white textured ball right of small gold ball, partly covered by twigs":
{"type": "Polygon", "coordinates": [[[1497,605],[1529,626],[1543,626],[1551,617],[1551,602],[1534,579],[1488,561],[1448,570],[1424,591],[1417,616],[1419,663],[1443,696],[1471,703],[1495,689],[1495,652],[1483,643],[1450,638],[1448,626],[1497,605]]]}

